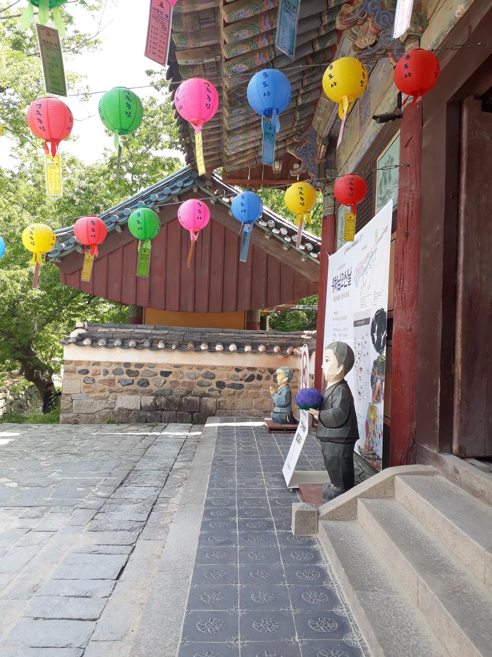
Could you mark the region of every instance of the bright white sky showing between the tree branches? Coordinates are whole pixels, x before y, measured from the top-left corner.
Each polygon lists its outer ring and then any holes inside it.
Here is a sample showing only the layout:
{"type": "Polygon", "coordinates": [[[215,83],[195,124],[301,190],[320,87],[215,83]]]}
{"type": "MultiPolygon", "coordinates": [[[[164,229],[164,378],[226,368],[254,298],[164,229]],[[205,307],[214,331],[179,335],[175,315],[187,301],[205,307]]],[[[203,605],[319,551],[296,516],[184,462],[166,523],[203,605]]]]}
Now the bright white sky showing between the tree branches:
{"type": "MultiPolygon", "coordinates": [[[[91,91],[107,91],[112,87],[138,87],[148,85],[146,70],[161,68],[159,64],[144,57],[148,16],[148,0],[108,0],[106,11],[102,15],[102,32],[98,38],[102,41],[94,53],[84,53],[74,57],[64,55],[65,71],[75,72],[85,76],[85,81],[91,91]]],[[[74,16],[79,30],[94,35],[97,32],[96,22],[89,12],[72,5],[70,11],[74,16]]],[[[63,43],[62,43],[63,47],[63,43]]],[[[159,97],[154,89],[135,89],[135,93],[144,100],[149,95],[159,97]]],[[[73,93],[73,89],[68,90],[73,93]]],[[[62,152],[71,152],[87,164],[95,162],[102,156],[104,148],[112,148],[112,137],[104,131],[99,114],[98,102],[101,94],[91,96],[89,102],[77,98],[62,98],[70,107],[75,119],[72,135],[78,139],[64,141],[60,147],[62,152]]],[[[144,119],[145,120],[145,119],[144,119]]],[[[0,139],[0,164],[12,166],[10,158],[10,142],[7,135],[0,139]]],[[[174,153],[176,154],[176,153],[174,153]]]]}

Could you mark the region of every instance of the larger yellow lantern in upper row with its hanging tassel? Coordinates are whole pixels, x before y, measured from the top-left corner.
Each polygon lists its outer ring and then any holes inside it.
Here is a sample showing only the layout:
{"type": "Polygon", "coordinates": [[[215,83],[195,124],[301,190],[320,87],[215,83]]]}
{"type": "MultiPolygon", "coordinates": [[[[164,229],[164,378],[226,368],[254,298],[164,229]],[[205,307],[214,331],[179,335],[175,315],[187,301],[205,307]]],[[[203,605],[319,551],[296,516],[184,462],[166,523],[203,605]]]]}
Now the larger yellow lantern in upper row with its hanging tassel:
{"type": "Polygon", "coordinates": [[[323,91],[331,101],[338,102],[338,116],[342,120],[337,148],[342,142],[348,113],[354,102],[364,93],[368,79],[367,68],[355,57],[340,57],[325,70],[323,91]]]}

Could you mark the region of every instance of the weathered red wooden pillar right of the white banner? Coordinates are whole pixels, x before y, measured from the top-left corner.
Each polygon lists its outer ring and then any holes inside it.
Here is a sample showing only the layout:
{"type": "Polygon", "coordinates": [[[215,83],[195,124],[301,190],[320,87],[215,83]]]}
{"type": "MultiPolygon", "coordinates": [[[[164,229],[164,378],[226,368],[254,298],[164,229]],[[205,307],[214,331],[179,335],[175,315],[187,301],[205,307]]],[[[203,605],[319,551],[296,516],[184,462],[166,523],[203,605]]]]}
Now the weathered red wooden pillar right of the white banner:
{"type": "Polygon", "coordinates": [[[417,304],[420,260],[422,104],[407,107],[400,131],[400,184],[396,227],[391,368],[390,465],[401,465],[415,440],[417,304]]]}

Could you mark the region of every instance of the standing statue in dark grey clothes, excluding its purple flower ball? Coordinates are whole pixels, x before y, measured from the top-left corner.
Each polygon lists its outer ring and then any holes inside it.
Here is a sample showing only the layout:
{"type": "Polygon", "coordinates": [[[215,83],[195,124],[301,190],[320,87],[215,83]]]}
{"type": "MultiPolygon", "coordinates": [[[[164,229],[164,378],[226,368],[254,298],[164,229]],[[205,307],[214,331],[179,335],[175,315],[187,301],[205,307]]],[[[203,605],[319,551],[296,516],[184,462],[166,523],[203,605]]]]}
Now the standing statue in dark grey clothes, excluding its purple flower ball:
{"type": "Polygon", "coordinates": [[[345,342],[332,342],[323,351],[323,375],[327,388],[318,410],[310,409],[318,419],[316,438],[330,477],[323,484],[323,501],[342,495],[354,486],[354,447],[359,440],[354,397],[345,380],[354,367],[354,351],[345,342]]]}

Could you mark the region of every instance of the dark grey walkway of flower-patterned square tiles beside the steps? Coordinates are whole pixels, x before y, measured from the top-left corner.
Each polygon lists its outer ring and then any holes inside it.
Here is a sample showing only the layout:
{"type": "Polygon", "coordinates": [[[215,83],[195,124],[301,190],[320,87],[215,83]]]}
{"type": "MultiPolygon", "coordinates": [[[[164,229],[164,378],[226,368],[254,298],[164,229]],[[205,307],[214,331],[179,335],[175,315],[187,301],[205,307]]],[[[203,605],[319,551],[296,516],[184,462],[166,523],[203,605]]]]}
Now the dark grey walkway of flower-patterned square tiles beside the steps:
{"type": "MultiPolygon", "coordinates": [[[[255,424],[218,420],[178,657],[363,657],[321,546],[291,532],[292,436],[255,424]]],[[[309,438],[299,468],[322,463],[309,438]]]]}

